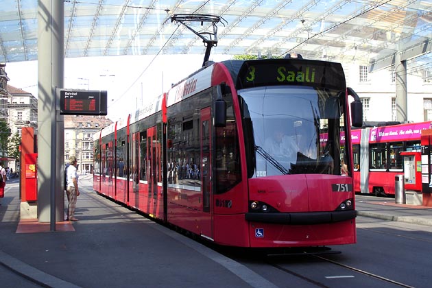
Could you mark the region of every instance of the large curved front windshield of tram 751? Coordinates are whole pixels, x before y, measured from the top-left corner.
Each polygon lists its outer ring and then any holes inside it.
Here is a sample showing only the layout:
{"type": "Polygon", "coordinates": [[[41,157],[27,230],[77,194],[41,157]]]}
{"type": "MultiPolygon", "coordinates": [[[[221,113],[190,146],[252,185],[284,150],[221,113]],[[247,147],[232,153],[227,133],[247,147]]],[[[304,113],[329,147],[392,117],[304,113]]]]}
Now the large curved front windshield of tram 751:
{"type": "MultiPolygon", "coordinates": [[[[249,129],[252,139],[245,141],[254,142],[250,149],[254,153],[253,177],[299,173],[341,175],[345,91],[261,86],[241,90],[239,95],[243,123],[252,126],[249,129]]],[[[245,135],[248,137],[248,133],[245,135]]]]}

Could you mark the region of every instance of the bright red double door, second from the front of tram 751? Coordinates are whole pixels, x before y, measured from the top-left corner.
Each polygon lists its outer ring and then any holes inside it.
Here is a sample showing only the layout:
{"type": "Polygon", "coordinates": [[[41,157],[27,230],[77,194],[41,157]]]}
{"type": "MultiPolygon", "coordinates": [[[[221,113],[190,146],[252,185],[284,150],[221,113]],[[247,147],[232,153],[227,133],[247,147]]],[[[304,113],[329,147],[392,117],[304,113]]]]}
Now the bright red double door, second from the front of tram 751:
{"type": "Polygon", "coordinates": [[[160,143],[158,143],[156,127],[147,129],[147,183],[149,214],[156,217],[163,217],[163,209],[159,206],[163,204],[161,195],[158,195],[158,182],[160,175],[160,143]]]}

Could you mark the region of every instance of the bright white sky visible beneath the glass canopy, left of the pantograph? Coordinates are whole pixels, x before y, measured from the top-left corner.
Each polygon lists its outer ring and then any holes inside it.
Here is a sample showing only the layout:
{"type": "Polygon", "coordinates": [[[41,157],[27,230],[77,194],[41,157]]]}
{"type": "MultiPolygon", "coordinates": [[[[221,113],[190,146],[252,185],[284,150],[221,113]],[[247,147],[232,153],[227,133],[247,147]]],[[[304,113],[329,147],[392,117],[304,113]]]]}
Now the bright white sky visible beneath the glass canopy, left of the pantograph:
{"type": "MultiPolygon", "coordinates": [[[[211,56],[215,62],[232,56],[211,56]]],[[[133,113],[146,99],[167,92],[202,67],[204,55],[107,56],[66,58],[64,88],[108,92],[108,115],[112,121],[133,113]]],[[[8,62],[9,85],[38,97],[38,62],[8,62]]]]}

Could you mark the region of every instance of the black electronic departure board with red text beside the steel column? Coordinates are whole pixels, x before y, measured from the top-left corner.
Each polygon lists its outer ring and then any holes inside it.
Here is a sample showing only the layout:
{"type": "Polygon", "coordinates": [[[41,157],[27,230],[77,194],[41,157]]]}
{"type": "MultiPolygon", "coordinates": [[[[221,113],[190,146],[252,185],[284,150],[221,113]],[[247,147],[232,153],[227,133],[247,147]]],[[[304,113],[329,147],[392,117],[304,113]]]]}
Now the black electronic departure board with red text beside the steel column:
{"type": "Polygon", "coordinates": [[[106,91],[60,90],[60,115],[107,115],[106,91]]]}

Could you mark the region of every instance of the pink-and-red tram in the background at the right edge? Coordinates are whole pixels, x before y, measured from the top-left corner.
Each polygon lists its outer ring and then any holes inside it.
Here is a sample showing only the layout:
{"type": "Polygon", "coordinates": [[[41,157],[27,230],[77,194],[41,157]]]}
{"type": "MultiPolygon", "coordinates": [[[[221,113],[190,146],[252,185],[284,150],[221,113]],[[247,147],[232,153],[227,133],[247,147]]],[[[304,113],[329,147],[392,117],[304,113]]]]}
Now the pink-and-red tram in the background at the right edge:
{"type": "Polygon", "coordinates": [[[405,175],[405,189],[421,191],[420,138],[422,130],[431,128],[432,122],[383,124],[351,131],[355,191],[394,195],[398,174],[405,175]],[[406,155],[412,156],[413,165],[404,163],[406,155]]]}

